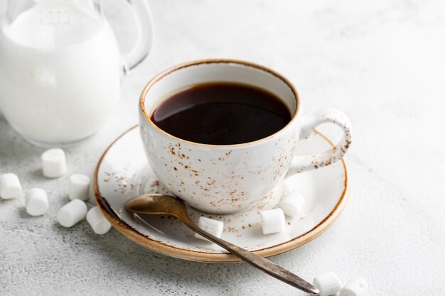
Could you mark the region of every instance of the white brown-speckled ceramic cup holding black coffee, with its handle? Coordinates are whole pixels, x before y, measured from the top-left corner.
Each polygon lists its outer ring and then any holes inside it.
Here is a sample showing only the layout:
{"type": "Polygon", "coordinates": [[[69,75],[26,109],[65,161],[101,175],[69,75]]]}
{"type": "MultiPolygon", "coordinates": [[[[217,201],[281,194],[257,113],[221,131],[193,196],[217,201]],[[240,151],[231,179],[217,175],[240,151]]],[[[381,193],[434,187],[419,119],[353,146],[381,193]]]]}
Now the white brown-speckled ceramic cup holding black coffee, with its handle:
{"type": "Polygon", "coordinates": [[[304,116],[302,111],[294,86],[267,67],[240,60],[198,60],[172,67],[146,85],[139,102],[139,126],[151,168],[166,188],[195,209],[227,214],[256,204],[285,177],[330,165],[346,153],[351,127],[345,114],[323,109],[304,116]],[[291,121],[271,136],[235,145],[193,143],[166,133],[151,121],[163,99],[203,82],[238,82],[267,89],[286,104],[291,121]],[[299,141],[325,123],[343,131],[335,148],[295,157],[299,141]]]}

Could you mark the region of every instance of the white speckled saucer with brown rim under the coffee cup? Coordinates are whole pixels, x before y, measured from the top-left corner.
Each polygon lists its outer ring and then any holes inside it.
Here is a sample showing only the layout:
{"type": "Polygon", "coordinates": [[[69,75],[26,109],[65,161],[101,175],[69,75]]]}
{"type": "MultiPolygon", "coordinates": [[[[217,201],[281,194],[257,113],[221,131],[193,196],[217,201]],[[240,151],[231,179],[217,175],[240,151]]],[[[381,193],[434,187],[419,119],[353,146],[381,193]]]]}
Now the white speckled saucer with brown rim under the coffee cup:
{"type": "MultiPolygon", "coordinates": [[[[326,150],[331,142],[321,133],[301,141],[297,155],[326,150]]],[[[95,199],[110,223],[124,236],[159,253],[192,261],[240,261],[219,246],[195,239],[193,231],[171,216],[132,215],[124,202],[144,192],[166,192],[146,160],[134,127],[119,136],[104,151],[97,163],[94,180],[95,199]]],[[[348,175],[344,160],[318,170],[288,178],[282,185],[261,197],[259,204],[237,214],[205,214],[188,208],[194,221],[208,216],[224,221],[222,238],[259,256],[273,256],[311,241],[335,221],[348,199],[348,175]],[[259,212],[272,209],[289,192],[301,193],[306,204],[295,218],[286,217],[286,229],[263,235],[259,212]]]]}

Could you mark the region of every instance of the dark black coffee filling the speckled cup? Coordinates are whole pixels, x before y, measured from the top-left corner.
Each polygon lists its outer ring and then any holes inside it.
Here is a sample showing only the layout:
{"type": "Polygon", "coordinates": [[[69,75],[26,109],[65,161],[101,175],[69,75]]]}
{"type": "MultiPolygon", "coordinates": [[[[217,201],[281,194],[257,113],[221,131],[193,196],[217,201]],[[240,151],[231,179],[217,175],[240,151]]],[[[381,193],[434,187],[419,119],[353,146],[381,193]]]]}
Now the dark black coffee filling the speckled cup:
{"type": "Polygon", "coordinates": [[[168,97],[151,120],[184,140],[229,145],[270,136],[289,123],[291,114],[281,99],[264,89],[212,82],[168,97]]]}

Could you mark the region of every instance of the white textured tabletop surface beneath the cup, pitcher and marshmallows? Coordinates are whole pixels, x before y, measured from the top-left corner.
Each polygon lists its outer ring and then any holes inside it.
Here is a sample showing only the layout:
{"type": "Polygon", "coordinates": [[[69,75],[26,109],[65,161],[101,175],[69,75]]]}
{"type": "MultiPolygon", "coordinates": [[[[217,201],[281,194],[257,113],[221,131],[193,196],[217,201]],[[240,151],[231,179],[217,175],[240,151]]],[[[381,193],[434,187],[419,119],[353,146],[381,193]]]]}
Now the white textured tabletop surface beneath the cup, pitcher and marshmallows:
{"type": "MultiPolygon", "coordinates": [[[[66,150],[68,175],[91,175],[109,142],[136,124],[139,93],[157,72],[203,57],[258,62],[296,84],[306,111],[342,109],[355,131],[340,219],[272,260],[309,279],[362,275],[370,295],[444,295],[444,1],[150,2],[151,55],[124,80],[112,121],[66,150]]],[[[28,216],[22,198],[0,200],[0,295],[304,295],[244,263],[168,258],[114,229],[97,236],[86,221],[64,229],[55,215],[68,180],[43,177],[42,151],[0,117],[0,172],[50,199],[41,217],[28,216]]]]}

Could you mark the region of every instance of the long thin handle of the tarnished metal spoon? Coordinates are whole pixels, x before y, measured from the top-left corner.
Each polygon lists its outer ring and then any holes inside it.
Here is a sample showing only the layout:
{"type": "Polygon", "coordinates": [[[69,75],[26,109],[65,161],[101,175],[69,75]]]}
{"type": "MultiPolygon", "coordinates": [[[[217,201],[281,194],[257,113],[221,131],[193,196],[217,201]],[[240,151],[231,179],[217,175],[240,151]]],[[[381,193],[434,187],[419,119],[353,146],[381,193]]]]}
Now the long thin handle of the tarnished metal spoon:
{"type": "Polygon", "coordinates": [[[229,243],[227,241],[224,241],[223,239],[219,239],[218,237],[213,236],[212,234],[209,234],[207,231],[204,231],[203,229],[200,229],[198,226],[196,226],[196,224],[194,224],[191,219],[183,219],[183,222],[184,224],[186,224],[186,226],[188,226],[188,228],[192,229],[201,236],[204,236],[209,241],[213,241],[213,243],[216,243],[218,246],[225,248],[233,255],[258,268],[259,270],[262,270],[264,273],[272,275],[274,278],[282,280],[284,283],[303,290],[304,292],[318,294],[319,291],[316,287],[306,282],[306,280],[303,280],[298,275],[291,273],[289,270],[282,268],[281,266],[267,260],[266,258],[260,257],[250,251],[247,251],[244,248],[240,248],[239,246],[235,246],[232,243],[229,243]]]}

